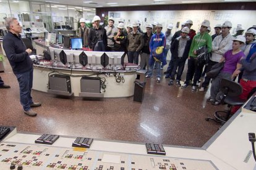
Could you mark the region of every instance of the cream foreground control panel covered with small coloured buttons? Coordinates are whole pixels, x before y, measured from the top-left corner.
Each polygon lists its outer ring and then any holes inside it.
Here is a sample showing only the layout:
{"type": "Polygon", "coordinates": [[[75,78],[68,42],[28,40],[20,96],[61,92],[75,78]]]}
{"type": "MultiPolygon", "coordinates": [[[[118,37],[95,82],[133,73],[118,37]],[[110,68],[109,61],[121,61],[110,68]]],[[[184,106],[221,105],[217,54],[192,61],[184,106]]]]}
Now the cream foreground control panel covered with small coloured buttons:
{"type": "Polygon", "coordinates": [[[150,169],[217,169],[211,161],[170,158],[155,155],[132,155],[126,153],[53,147],[51,145],[0,144],[0,167],[22,166],[27,169],[77,169],[77,170],[150,170],[150,169]]]}

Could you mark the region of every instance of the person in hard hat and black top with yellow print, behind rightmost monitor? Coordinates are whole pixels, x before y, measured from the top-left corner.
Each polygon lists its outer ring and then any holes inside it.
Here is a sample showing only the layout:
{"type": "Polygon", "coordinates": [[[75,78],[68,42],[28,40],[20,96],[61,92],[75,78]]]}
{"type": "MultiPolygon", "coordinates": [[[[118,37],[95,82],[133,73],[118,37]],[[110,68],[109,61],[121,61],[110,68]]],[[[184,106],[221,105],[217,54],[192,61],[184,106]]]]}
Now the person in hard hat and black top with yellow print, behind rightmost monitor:
{"type": "Polygon", "coordinates": [[[116,33],[114,33],[114,47],[113,50],[114,51],[126,51],[126,42],[127,42],[127,34],[124,33],[124,23],[119,23],[117,25],[117,29],[118,31],[116,33]]]}

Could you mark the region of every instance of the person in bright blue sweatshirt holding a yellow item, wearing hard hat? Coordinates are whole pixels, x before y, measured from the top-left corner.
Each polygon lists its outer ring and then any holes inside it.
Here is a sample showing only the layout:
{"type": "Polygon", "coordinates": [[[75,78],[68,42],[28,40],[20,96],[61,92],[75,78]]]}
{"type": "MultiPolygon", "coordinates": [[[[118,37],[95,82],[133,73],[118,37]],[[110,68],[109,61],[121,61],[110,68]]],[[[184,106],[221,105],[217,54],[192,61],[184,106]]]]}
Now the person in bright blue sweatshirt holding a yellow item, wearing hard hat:
{"type": "Polygon", "coordinates": [[[150,61],[149,70],[146,78],[150,78],[153,75],[153,65],[156,67],[156,81],[160,83],[161,80],[161,62],[166,65],[164,60],[164,48],[166,46],[166,36],[162,32],[163,25],[158,23],[156,25],[156,33],[151,36],[150,39],[150,61]]]}

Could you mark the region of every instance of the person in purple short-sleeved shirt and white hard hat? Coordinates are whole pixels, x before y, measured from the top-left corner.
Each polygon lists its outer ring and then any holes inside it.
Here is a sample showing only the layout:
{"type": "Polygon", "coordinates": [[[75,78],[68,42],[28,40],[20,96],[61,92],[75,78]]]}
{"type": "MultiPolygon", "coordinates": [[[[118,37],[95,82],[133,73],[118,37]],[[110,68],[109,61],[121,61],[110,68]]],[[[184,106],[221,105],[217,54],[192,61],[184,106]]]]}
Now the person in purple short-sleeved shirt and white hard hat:
{"type": "Polygon", "coordinates": [[[236,76],[237,70],[242,68],[240,60],[245,57],[244,52],[241,51],[241,47],[245,44],[245,37],[242,35],[233,39],[232,49],[225,52],[220,59],[220,63],[224,62],[224,67],[211,81],[210,97],[207,99],[212,105],[220,105],[221,99],[223,99],[223,92],[220,90],[221,79],[232,80],[236,76]]]}

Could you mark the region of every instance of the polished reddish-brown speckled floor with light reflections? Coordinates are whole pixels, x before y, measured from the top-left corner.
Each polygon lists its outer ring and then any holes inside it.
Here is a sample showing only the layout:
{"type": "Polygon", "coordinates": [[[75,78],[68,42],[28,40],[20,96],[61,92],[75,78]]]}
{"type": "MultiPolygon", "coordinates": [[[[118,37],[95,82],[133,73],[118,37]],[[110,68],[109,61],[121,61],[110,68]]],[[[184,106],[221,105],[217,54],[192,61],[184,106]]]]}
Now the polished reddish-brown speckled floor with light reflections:
{"type": "Polygon", "coordinates": [[[17,126],[18,131],[190,147],[202,147],[218,131],[218,124],[205,118],[223,106],[207,103],[208,92],[168,86],[168,79],[156,83],[156,78],[147,80],[142,103],[132,97],[85,100],[32,91],[42,106],[34,109],[38,116],[29,117],[22,111],[17,79],[7,59],[4,67],[0,76],[11,89],[0,89],[0,124],[17,126]]]}

